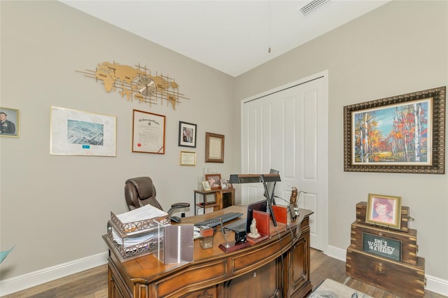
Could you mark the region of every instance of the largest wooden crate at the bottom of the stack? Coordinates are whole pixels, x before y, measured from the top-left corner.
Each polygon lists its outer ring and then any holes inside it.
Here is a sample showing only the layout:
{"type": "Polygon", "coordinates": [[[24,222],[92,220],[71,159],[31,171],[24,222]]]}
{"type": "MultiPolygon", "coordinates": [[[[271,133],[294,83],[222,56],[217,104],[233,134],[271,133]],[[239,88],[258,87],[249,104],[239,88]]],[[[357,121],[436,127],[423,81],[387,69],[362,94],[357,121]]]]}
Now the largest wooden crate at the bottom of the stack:
{"type": "Polygon", "coordinates": [[[417,264],[412,265],[349,247],[346,255],[346,274],[400,297],[425,295],[425,259],[422,257],[417,257],[417,264]]]}

